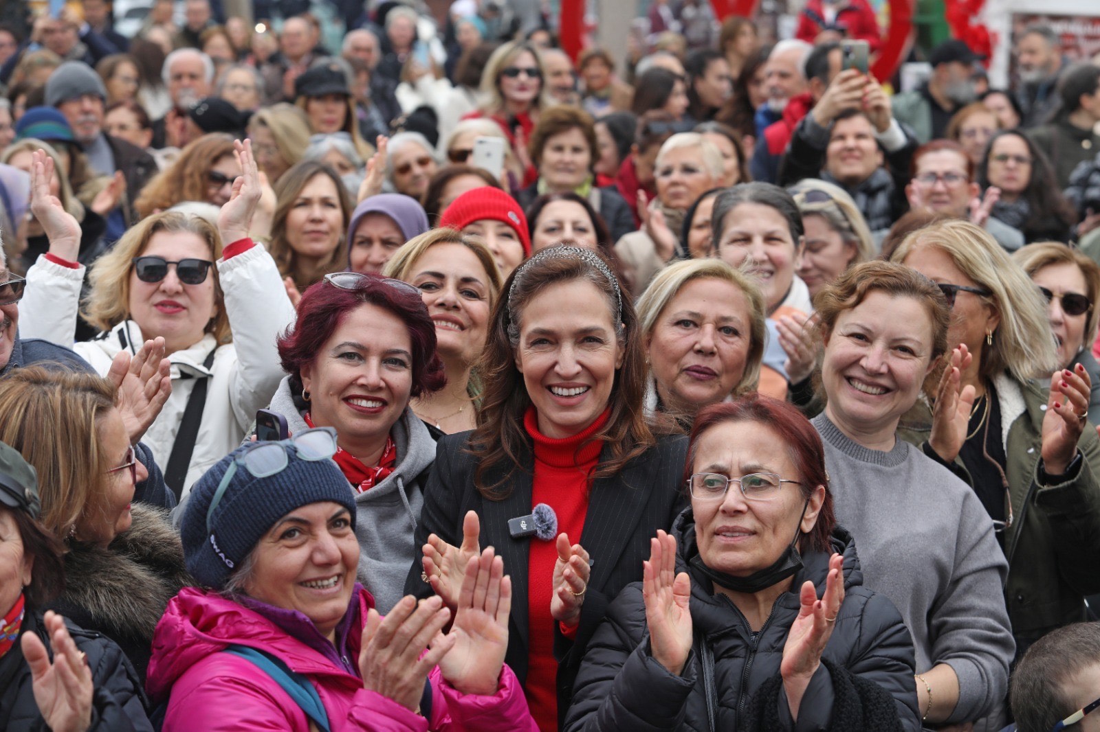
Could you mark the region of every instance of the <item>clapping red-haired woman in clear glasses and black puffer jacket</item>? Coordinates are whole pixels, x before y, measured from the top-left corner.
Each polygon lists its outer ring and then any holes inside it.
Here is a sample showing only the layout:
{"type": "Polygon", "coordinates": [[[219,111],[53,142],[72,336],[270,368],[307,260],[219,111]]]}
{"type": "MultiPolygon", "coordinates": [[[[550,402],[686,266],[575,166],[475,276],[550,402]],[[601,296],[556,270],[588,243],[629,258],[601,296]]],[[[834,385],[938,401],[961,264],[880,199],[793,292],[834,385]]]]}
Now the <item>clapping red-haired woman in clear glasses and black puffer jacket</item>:
{"type": "Polygon", "coordinates": [[[909,631],[864,585],[806,419],[705,407],[684,473],[691,507],[608,607],[564,730],[920,730],[909,631]]]}

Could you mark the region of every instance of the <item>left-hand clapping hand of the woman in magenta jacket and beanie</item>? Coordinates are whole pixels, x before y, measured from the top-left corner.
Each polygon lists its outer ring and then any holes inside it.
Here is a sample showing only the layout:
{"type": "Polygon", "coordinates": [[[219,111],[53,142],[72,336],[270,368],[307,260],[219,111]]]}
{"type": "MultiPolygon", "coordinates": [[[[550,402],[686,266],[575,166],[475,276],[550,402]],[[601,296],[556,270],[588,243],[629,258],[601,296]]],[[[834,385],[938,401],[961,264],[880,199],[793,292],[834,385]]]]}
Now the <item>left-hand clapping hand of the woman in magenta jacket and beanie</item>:
{"type": "Polygon", "coordinates": [[[409,711],[417,711],[428,673],[458,640],[450,633],[432,640],[440,635],[450,619],[451,611],[438,597],[418,605],[415,597],[406,595],[384,620],[371,608],[359,653],[363,688],[393,699],[409,711]]]}

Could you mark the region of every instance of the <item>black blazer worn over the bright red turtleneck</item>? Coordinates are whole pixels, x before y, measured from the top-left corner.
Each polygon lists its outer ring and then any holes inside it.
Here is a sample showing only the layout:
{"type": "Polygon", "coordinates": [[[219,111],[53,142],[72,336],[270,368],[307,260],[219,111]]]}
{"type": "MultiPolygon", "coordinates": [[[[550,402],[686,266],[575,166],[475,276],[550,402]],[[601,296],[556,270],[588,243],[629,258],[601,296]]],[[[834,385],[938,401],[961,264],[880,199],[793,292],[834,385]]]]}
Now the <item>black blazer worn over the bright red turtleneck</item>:
{"type": "MultiPolygon", "coordinates": [[[[488,500],[474,487],[476,462],[465,452],[471,433],[443,437],[436,446],[436,462],[424,490],[424,510],[416,528],[416,546],[429,534],[458,546],[462,543],[462,519],[466,511],[481,519],[481,546],[493,546],[504,558],[504,572],[512,576],[512,618],[508,623],[508,651],[505,663],[522,683],[527,678],[528,546],[534,539],[512,539],[508,519],[531,512],[531,466],[528,452],[522,469],[512,477],[512,492],[504,500],[488,500]]],[[[620,473],[597,478],[592,484],[588,510],[580,544],[593,561],[592,576],[581,607],[581,622],[574,640],[554,630],[554,655],[558,657],[559,724],[573,694],[573,679],[584,656],[588,639],[604,619],[607,606],[630,583],[641,581],[641,563],[649,558],[649,540],[658,529],[670,531],[672,522],[686,506],[680,486],[688,440],[684,436],[658,437],[657,445],[631,461],[620,473]]],[[[601,461],[607,458],[607,448],[601,461]]],[[[496,473],[496,477],[506,470],[496,473]]],[[[488,474],[492,485],[494,474],[488,474]]],[[[575,541],[575,537],[570,537],[575,541]]],[[[418,558],[409,570],[405,592],[429,597],[431,587],[420,579],[424,572],[418,558]]]]}

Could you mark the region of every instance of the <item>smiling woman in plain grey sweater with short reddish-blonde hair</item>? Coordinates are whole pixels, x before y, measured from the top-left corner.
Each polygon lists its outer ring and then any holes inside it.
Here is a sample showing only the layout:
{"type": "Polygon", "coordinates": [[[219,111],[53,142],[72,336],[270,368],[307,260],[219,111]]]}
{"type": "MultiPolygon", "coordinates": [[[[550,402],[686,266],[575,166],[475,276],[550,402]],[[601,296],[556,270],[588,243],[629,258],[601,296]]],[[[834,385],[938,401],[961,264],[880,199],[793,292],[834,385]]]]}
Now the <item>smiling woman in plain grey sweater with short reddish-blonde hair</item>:
{"type": "Polygon", "coordinates": [[[963,480],[898,434],[946,353],[945,298],[912,269],[869,262],[815,303],[826,404],[813,424],[836,519],[859,547],[867,586],[890,598],[913,635],[921,717],[999,716],[1014,644],[993,524],[963,480]]]}

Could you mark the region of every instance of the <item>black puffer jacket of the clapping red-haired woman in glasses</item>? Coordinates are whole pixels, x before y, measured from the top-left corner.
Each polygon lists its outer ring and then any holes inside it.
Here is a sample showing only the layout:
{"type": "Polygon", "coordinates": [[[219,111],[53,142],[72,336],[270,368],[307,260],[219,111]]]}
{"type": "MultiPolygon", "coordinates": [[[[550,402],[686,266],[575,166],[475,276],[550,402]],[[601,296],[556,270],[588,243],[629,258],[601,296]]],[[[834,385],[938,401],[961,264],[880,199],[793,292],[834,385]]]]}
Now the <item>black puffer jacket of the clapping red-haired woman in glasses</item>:
{"type": "MultiPolygon", "coordinates": [[[[697,553],[690,509],[676,520],[675,534],[676,569],[692,578],[695,632],[683,674],[673,676],[650,655],[641,584],[629,585],[588,643],[564,729],[795,729],[779,683],[779,666],[788,631],[799,614],[798,588],[811,579],[818,597],[824,592],[828,555],[814,552],[803,557],[805,566],[794,576],[792,591],[779,597],[754,637],[734,603],[724,595],[712,595],[711,583],[689,568],[688,559],[697,553]],[[704,680],[708,667],[714,680],[710,709],[704,680]]],[[[920,730],[909,631],[884,596],[862,587],[855,543],[843,529],[834,532],[833,548],[844,556],[844,605],[824,663],[803,697],[796,729],[920,730]]]]}

